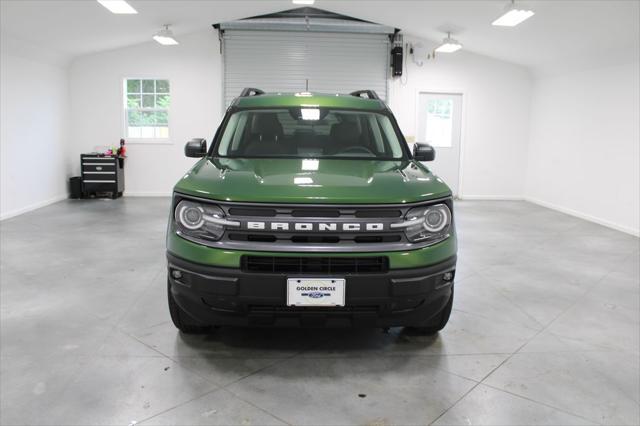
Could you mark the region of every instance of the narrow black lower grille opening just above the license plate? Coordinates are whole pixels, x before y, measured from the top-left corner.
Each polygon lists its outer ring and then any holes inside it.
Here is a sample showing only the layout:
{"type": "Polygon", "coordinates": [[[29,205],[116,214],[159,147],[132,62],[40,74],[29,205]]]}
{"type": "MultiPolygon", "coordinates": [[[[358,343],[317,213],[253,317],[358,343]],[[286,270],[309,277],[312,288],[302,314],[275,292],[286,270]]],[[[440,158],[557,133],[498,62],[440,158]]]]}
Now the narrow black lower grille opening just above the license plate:
{"type": "Polygon", "coordinates": [[[389,270],[389,259],[370,257],[278,257],[243,256],[242,270],[255,273],[288,274],[375,274],[389,270]]]}

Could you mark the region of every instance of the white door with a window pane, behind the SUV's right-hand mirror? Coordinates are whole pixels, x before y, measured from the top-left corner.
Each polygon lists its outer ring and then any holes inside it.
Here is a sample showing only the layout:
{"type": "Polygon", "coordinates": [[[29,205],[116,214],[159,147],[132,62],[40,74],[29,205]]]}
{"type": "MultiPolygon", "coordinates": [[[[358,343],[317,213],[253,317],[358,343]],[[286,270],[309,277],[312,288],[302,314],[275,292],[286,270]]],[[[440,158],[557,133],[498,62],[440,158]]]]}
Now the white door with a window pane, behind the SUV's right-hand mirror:
{"type": "Polygon", "coordinates": [[[436,159],[427,164],[458,195],[460,178],[460,137],[462,135],[462,94],[420,93],[418,96],[416,142],[432,145],[436,159]]]}

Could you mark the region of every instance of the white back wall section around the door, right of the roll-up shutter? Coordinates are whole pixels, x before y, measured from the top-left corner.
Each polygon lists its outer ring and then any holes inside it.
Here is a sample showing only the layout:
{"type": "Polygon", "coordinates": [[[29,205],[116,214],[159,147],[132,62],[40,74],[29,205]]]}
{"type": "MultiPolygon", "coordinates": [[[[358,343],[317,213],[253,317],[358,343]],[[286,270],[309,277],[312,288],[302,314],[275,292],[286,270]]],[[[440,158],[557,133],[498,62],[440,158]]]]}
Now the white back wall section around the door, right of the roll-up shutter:
{"type": "MultiPolygon", "coordinates": [[[[407,41],[432,46],[410,36],[407,41]]],[[[522,199],[532,84],[527,69],[464,50],[439,54],[422,67],[407,59],[404,76],[391,83],[389,102],[403,133],[416,136],[419,91],[462,91],[460,197],[522,199]]]]}

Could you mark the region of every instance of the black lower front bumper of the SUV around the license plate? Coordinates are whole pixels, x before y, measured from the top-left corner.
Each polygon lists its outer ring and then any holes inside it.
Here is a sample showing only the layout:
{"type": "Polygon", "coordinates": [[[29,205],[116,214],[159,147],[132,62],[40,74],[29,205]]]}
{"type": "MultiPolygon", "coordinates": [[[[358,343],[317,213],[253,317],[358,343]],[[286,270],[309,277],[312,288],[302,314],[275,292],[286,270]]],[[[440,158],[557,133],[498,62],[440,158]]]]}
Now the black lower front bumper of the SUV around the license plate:
{"type": "Polygon", "coordinates": [[[424,326],[447,304],[456,265],[454,254],[426,267],[345,274],[344,307],[296,308],[286,306],[286,281],[292,275],[207,266],[171,253],[167,257],[176,303],[202,323],[236,326],[424,326]],[[172,277],[174,270],[181,272],[180,279],[172,277]],[[447,272],[452,273],[449,280],[444,279],[447,272]]]}

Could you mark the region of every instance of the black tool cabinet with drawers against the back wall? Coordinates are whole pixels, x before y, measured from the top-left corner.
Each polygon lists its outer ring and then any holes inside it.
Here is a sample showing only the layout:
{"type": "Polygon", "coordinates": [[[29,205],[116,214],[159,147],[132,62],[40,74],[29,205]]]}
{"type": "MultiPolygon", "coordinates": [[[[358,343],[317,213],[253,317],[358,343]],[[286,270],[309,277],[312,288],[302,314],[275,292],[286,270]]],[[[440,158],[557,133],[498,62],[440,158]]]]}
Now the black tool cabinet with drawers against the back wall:
{"type": "Polygon", "coordinates": [[[85,197],[110,193],[118,198],[124,192],[124,159],[98,154],[81,154],[82,192],[85,197]]]}

